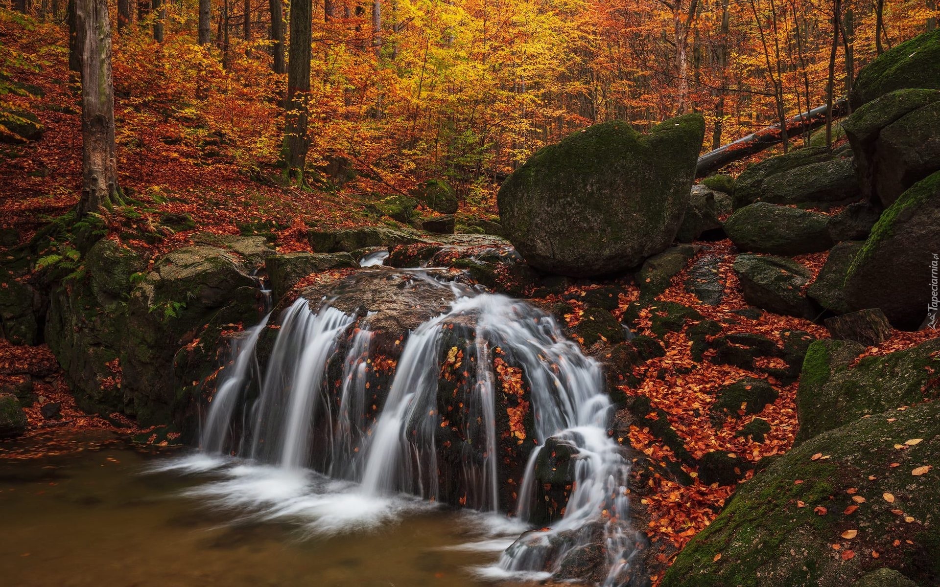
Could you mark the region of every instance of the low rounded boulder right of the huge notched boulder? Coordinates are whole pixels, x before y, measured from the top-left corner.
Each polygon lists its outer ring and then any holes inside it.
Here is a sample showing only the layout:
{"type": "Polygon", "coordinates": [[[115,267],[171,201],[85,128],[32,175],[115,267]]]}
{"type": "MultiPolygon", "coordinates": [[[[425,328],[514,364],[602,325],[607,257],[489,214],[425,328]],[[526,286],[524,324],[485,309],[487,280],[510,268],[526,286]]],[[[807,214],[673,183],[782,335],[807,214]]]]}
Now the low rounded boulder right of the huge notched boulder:
{"type": "Polygon", "coordinates": [[[731,214],[725,232],[742,251],[802,255],[832,246],[828,223],[820,212],[758,202],[731,214]]]}

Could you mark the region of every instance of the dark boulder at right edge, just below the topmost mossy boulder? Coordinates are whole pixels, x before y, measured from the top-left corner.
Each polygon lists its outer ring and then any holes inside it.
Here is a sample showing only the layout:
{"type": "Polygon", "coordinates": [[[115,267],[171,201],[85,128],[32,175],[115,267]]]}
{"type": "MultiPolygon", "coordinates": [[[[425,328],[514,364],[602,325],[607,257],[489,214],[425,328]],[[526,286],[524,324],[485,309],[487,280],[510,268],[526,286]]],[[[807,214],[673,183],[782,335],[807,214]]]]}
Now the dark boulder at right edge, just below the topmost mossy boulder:
{"type": "Polygon", "coordinates": [[[886,208],[904,190],[940,169],[940,139],[932,132],[937,108],[940,91],[901,89],[845,119],[859,187],[872,203],[886,208]]]}

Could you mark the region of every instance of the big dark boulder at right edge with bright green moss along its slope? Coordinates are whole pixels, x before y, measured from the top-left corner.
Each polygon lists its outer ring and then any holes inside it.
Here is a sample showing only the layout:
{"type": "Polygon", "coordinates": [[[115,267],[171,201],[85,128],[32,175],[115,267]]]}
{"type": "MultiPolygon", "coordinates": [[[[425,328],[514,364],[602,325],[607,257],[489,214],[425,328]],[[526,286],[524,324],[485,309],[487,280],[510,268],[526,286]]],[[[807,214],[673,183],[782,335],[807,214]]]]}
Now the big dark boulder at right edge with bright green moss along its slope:
{"type": "Polygon", "coordinates": [[[881,308],[895,328],[917,330],[934,308],[940,255],[940,172],[901,194],[871,229],[845,280],[853,310],[881,308]],[[932,293],[933,292],[933,293],[932,293]]]}

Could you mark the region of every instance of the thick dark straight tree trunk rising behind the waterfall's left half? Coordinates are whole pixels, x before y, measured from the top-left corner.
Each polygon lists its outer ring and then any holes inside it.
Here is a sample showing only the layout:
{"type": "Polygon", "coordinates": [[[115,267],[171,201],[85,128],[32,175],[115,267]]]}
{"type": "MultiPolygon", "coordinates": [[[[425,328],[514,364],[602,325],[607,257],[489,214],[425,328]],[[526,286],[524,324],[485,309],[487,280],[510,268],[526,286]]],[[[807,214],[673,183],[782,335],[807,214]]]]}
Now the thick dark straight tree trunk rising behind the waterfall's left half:
{"type": "Polygon", "coordinates": [[[288,178],[304,182],[306,150],[307,100],[310,95],[310,43],[313,41],[312,0],[290,3],[290,52],[288,59],[288,96],[284,129],[284,165],[288,178]]]}

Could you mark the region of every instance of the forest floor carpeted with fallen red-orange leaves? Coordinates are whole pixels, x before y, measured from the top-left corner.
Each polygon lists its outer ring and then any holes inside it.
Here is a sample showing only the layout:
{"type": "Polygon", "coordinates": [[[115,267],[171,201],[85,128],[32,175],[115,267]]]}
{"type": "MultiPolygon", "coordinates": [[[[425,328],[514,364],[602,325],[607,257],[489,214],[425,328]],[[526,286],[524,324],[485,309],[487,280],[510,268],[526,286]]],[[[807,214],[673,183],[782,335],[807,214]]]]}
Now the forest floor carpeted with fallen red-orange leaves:
{"type": "MultiPolygon", "coordinates": [[[[23,62],[4,75],[16,80],[29,95],[5,97],[18,108],[39,116],[45,127],[40,141],[24,145],[0,146],[0,228],[13,229],[15,239],[28,241],[44,224],[72,209],[78,199],[82,171],[81,121],[77,87],[68,69],[68,52],[62,28],[37,24],[25,29],[22,23],[0,19],[0,40],[23,56],[23,62]],[[55,44],[49,42],[55,39],[55,44]]],[[[117,100],[117,117],[132,121],[129,106],[117,100]]],[[[266,232],[274,238],[274,247],[281,251],[308,249],[305,231],[310,226],[323,228],[381,224],[368,212],[368,194],[382,191],[381,182],[357,178],[342,190],[301,190],[277,185],[265,171],[247,169],[227,157],[225,144],[216,150],[177,142],[183,123],[166,117],[162,124],[125,128],[125,135],[135,137],[133,148],[118,149],[120,184],[141,205],[139,215],[119,217],[118,222],[133,224],[136,230],[147,230],[158,224],[162,214],[184,213],[195,226],[160,239],[158,244],[134,241],[136,246],[154,248],[154,253],[180,246],[196,231],[220,234],[243,234],[245,231],[266,232]]],[[[482,210],[492,212],[492,204],[482,210]]],[[[8,244],[12,244],[9,243],[8,244]]],[[[695,308],[707,318],[737,324],[730,332],[752,332],[779,338],[781,332],[806,331],[815,337],[827,337],[818,324],[793,317],[763,313],[759,319],[741,320],[734,310],[746,303],[730,269],[735,252],[729,241],[709,243],[708,250],[721,255],[720,273],[726,284],[725,299],[718,306],[700,303],[687,293],[682,283],[685,271],[677,275],[660,301],[676,301],[695,308]]],[[[818,271],[826,254],[807,255],[800,260],[818,271]]],[[[5,285],[4,285],[5,286],[5,285]]],[[[589,288],[589,287],[588,287],[589,288]]],[[[571,294],[572,291],[567,293],[571,294]]],[[[635,291],[621,300],[621,308],[635,299],[635,291]]],[[[574,318],[576,322],[577,318],[574,318]]],[[[930,334],[895,332],[891,339],[869,348],[866,354],[884,354],[922,342],[930,334]]],[[[708,417],[708,406],[714,402],[714,391],[743,377],[761,377],[756,371],[712,363],[706,354],[696,362],[691,342],[685,332],[666,335],[665,357],[653,359],[640,368],[643,383],[635,389],[624,388],[628,395],[650,397],[654,409],[663,409],[669,423],[679,433],[693,456],[723,450],[744,456],[751,462],[763,456],[779,455],[790,449],[798,423],[794,405],[796,383],[778,385],[780,395],[761,418],[771,421],[768,440],[763,443],[737,436],[751,418],[729,419],[714,425],[708,417]]],[[[43,443],[41,437],[51,427],[113,428],[122,433],[146,432],[133,422],[121,422],[119,414],[109,419],[83,414],[74,406],[68,385],[55,358],[46,346],[13,347],[0,341],[0,384],[13,384],[16,378],[33,378],[36,393],[47,402],[61,405],[63,419],[45,421],[39,408],[27,408],[31,431],[37,442],[23,452],[5,457],[28,458],[69,447],[43,443]]],[[[778,382],[771,380],[773,384],[778,382]]],[[[675,456],[649,428],[631,427],[629,442],[638,453],[652,461],[666,464],[675,456]]],[[[682,465],[684,469],[688,469],[682,465]]],[[[687,471],[695,473],[695,471],[687,471]]],[[[746,478],[752,476],[748,472],[746,478]]],[[[693,474],[693,477],[695,475],[693,474]]],[[[644,498],[648,508],[649,527],[644,529],[659,548],[659,563],[667,565],[687,542],[717,516],[733,493],[731,486],[707,486],[698,481],[682,486],[659,474],[650,477],[650,496],[644,498]]],[[[653,577],[655,584],[659,577],[653,577]]]]}

